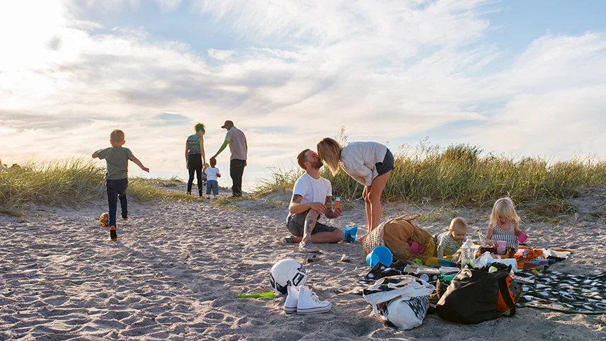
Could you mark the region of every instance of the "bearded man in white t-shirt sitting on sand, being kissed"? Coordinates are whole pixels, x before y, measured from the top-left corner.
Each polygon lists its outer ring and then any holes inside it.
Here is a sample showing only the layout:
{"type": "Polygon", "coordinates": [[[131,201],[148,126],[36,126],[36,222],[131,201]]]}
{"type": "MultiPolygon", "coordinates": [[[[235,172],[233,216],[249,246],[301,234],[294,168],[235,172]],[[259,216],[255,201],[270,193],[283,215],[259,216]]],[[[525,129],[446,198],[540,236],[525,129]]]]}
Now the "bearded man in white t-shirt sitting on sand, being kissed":
{"type": "Polygon", "coordinates": [[[299,250],[319,252],[314,243],[336,243],[343,240],[343,230],[318,222],[320,214],[333,219],[343,212],[333,210],[331,182],[320,176],[323,166],[318,154],[305,149],[297,156],[297,163],[305,170],[295,183],[290,200],[286,227],[292,236],[282,243],[299,243],[299,250]]]}

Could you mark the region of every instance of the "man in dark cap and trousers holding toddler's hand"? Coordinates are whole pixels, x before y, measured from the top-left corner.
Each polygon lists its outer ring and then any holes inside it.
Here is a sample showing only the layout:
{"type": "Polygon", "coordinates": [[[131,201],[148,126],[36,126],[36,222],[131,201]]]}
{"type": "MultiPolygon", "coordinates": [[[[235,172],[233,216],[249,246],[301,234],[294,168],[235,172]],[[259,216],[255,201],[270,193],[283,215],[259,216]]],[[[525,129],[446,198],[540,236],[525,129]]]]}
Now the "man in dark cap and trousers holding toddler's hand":
{"type": "Polygon", "coordinates": [[[234,122],[230,120],[225,121],[222,126],[223,129],[227,129],[225,134],[225,141],[219,151],[212,156],[217,158],[217,155],[221,154],[223,149],[229,144],[229,151],[231,151],[231,157],[229,161],[229,175],[231,176],[231,195],[233,197],[242,196],[242,175],[244,174],[244,167],[246,167],[246,154],[248,154],[248,144],[246,143],[246,136],[240,129],[234,127],[234,122]]]}

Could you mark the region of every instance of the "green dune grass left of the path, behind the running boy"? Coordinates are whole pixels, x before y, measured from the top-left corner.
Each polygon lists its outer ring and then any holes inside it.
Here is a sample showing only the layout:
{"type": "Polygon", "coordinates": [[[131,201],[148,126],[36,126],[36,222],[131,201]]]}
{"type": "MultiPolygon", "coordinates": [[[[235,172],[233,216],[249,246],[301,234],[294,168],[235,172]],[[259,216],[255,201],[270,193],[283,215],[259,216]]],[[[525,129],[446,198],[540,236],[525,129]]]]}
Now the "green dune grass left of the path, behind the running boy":
{"type": "MultiPolygon", "coordinates": [[[[130,178],[128,196],[137,202],[198,200],[197,196],[165,189],[179,183],[178,178],[130,178]]],[[[30,162],[0,171],[0,212],[7,214],[19,214],[30,204],[78,207],[105,198],[105,168],[98,162],[80,158],[45,165],[30,162]]]]}

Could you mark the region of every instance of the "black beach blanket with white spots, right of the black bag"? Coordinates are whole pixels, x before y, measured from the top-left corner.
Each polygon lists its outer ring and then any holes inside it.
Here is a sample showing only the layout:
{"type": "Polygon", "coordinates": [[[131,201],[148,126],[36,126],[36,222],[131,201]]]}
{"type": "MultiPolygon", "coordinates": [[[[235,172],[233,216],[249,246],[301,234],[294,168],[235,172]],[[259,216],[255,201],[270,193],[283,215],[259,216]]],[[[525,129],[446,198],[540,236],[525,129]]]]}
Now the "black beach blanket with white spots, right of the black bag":
{"type": "Polygon", "coordinates": [[[565,313],[606,313],[606,272],[599,274],[568,274],[532,270],[518,272],[522,287],[519,307],[550,309],[565,313]]]}

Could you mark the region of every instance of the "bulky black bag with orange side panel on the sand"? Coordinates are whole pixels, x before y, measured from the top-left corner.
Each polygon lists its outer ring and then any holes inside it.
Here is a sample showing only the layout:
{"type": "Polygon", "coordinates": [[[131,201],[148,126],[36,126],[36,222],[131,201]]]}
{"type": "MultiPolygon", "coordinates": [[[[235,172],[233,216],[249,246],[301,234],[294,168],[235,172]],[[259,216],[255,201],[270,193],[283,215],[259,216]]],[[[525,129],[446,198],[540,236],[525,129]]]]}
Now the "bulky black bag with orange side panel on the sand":
{"type": "Polygon", "coordinates": [[[515,303],[508,291],[510,265],[493,263],[480,270],[461,270],[438,301],[436,312],[440,318],[457,323],[475,324],[493,320],[503,315],[497,310],[499,291],[509,308],[509,316],[515,315],[515,303]],[[489,267],[496,272],[488,273],[489,267]]]}

